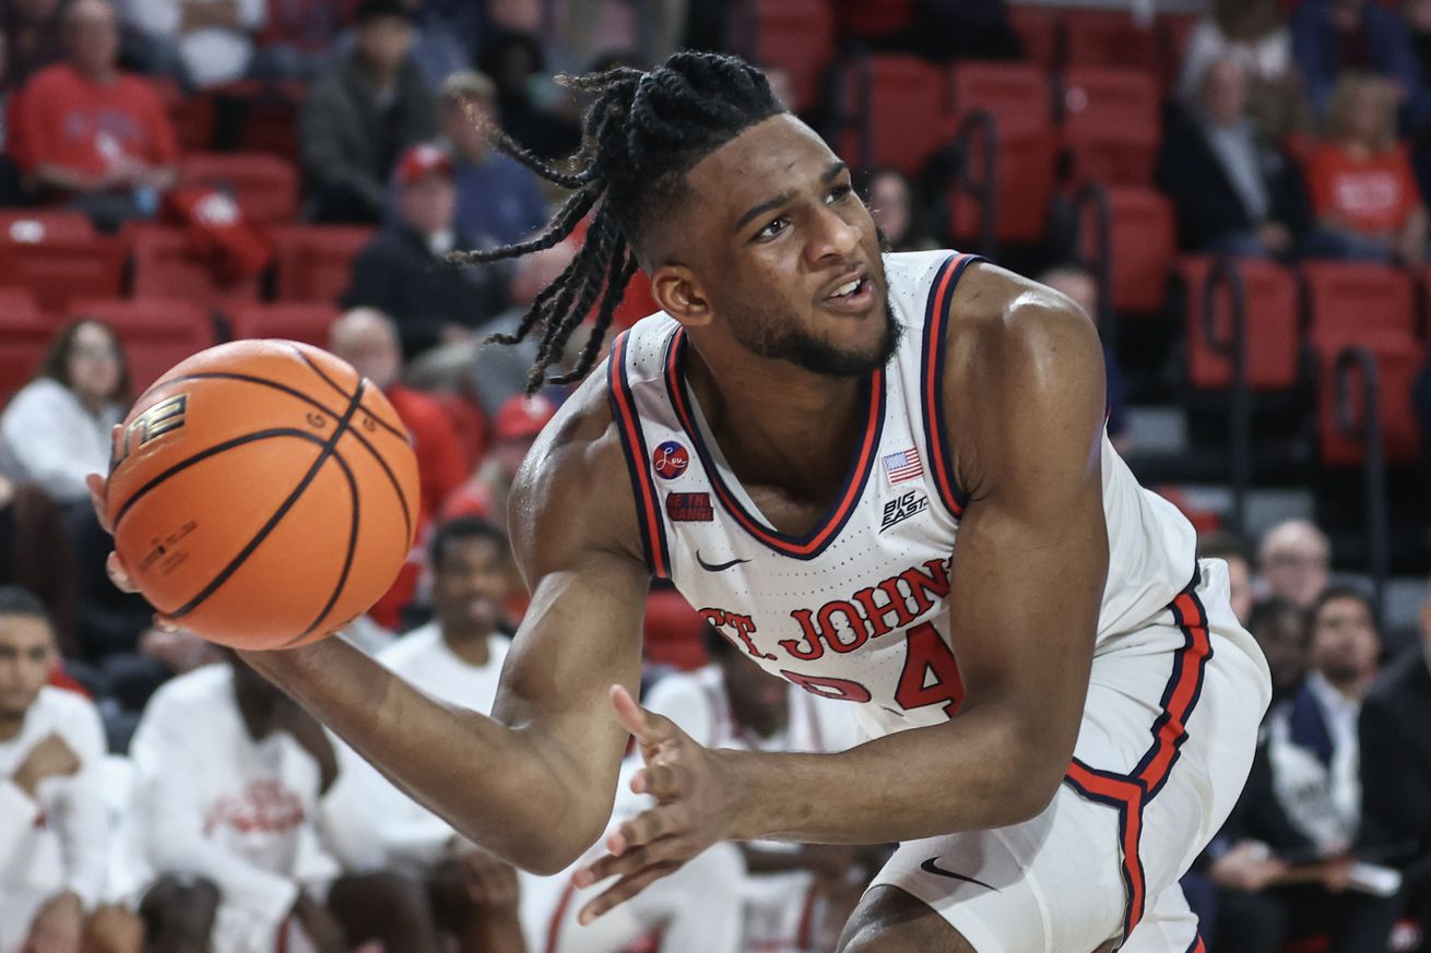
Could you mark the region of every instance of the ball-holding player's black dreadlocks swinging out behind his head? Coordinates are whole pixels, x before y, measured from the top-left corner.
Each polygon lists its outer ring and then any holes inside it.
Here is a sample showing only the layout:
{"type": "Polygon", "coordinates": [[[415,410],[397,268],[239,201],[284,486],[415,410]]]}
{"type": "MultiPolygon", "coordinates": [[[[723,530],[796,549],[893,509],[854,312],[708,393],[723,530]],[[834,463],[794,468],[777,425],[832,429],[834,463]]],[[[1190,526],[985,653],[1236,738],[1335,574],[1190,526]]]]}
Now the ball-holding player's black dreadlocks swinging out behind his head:
{"type": "Polygon", "coordinates": [[[653,212],[680,197],[685,173],[743,130],[784,112],[757,69],[713,53],[675,53],[650,72],[615,69],[558,79],[597,93],[582,117],[578,172],[552,167],[498,129],[489,135],[498,149],[548,182],[572,189],[572,196],[528,242],[451,256],[456,263],[479,263],[548,249],[595,209],[587,240],[567,270],[537,295],[515,333],[489,339],[517,343],[541,326],[528,394],[547,382],[547,369],[600,299],[595,326],[575,369],[552,382],[578,381],[595,363],[611,315],[637,269],[634,242],[653,212]]]}

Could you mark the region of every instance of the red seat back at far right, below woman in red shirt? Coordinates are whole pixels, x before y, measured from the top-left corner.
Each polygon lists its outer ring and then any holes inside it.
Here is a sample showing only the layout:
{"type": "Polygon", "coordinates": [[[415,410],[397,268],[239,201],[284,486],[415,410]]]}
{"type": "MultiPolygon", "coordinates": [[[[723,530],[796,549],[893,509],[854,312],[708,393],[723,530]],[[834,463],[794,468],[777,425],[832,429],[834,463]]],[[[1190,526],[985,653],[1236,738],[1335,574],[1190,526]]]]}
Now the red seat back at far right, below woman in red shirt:
{"type": "Polygon", "coordinates": [[[1357,341],[1379,332],[1415,336],[1415,293],[1405,272],[1384,265],[1309,262],[1301,273],[1312,338],[1357,341]]]}

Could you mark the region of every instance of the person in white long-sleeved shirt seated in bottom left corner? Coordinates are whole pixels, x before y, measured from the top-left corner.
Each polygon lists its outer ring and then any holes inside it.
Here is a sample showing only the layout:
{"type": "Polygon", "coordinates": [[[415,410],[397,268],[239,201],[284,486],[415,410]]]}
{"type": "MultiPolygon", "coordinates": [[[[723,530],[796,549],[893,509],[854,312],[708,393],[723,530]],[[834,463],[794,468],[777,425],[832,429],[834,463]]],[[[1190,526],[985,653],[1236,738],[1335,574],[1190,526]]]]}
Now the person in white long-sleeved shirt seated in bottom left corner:
{"type": "Polygon", "coordinates": [[[57,658],[40,601],[0,587],[0,953],[139,953],[137,919],[100,903],[104,731],[46,684],[57,658]]]}

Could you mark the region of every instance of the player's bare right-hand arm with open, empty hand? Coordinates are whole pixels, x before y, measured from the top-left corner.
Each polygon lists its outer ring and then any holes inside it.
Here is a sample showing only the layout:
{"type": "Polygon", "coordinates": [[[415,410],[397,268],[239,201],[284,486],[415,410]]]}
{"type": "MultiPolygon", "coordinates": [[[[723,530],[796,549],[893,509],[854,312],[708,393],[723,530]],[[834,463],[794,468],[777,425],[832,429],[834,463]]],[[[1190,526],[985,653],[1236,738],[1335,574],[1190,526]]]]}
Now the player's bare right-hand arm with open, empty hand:
{"type": "Polygon", "coordinates": [[[1019,823],[1052,800],[1108,571],[1102,349],[1066,299],[989,266],[963,279],[954,309],[944,408],[970,494],[947,622],[966,687],[957,714],[839,754],[711,751],[618,694],[647,761],[633,786],[658,806],[578,874],[622,876],[585,916],[723,837],[913,840],[1019,823]]]}

